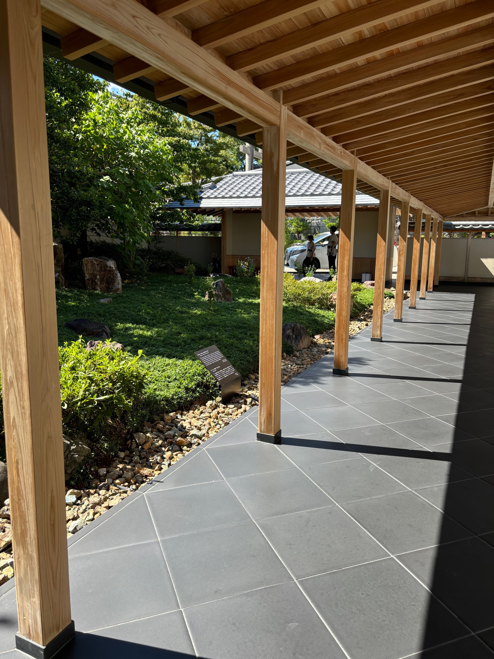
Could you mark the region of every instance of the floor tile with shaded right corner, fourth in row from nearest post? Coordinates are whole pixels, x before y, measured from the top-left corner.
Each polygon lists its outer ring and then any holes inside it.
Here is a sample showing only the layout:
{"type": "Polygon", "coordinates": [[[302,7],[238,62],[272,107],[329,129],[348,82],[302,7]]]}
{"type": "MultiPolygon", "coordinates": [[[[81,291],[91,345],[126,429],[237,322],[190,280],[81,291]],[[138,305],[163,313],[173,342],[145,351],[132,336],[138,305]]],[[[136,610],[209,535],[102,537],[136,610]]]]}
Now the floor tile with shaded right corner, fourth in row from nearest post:
{"type": "Polygon", "coordinates": [[[414,492],[344,503],[343,507],[391,554],[412,552],[470,535],[414,492]]]}

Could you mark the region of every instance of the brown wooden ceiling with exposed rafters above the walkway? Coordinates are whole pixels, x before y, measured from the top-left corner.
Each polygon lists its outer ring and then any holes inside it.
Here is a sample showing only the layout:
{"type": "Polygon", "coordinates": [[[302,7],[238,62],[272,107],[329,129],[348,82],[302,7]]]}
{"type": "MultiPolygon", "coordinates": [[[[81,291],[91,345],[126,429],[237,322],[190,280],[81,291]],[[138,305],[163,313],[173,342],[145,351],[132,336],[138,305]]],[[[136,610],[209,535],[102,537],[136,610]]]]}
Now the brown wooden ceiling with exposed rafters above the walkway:
{"type": "MultiPolygon", "coordinates": [[[[101,5],[118,11],[132,2],[101,5]]],[[[81,28],[83,20],[67,20],[82,16],[85,0],[41,3],[43,26],[61,39],[67,59],[99,58],[113,65],[121,84],[140,78],[153,84],[157,100],[185,101],[190,115],[214,118],[219,129],[235,127],[240,137],[257,133],[261,142],[261,126],[233,104],[227,107],[220,96],[209,98],[185,78],[172,77],[172,66],[161,70],[136,57],[120,47],[122,40],[81,28]]],[[[493,206],[493,0],[140,4],[190,40],[196,52],[199,46],[243,76],[246,86],[253,83],[267,98],[283,91],[283,103],[307,129],[356,152],[362,163],[437,213],[493,206]]],[[[288,156],[341,178],[344,165],[325,161],[321,151],[289,142],[288,156]]],[[[369,179],[359,181],[359,189],[379,196],[369,179]]]]}

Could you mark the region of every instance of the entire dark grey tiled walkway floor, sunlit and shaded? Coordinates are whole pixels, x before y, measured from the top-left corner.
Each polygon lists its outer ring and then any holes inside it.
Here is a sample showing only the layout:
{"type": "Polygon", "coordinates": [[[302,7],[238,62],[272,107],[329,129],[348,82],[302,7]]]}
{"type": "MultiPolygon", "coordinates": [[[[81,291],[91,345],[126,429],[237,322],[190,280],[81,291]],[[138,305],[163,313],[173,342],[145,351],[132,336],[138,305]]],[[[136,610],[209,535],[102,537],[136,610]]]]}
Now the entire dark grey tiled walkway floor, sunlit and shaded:
{"type": "MultiPolygon", "coordinates": [[[[494,289],[442,287],[74,536],[61,658],[494,657],[494,289]]],[[[17,629],[0,588],[0,658],[17,629]]]]}

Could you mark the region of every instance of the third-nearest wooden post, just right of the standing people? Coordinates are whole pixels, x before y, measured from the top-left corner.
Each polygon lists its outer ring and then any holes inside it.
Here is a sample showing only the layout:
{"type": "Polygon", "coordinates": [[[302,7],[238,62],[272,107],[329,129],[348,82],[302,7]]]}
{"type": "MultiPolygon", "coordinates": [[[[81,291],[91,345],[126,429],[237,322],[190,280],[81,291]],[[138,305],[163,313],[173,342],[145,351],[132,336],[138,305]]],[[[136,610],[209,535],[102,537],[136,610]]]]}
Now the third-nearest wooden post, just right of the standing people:
{"type": "Polygon", "coordinates": [[[350,329],[355,194],[357,188],[356,158],[354,162],[354,169],[343,170],[341,181],[338,281],[335,318],[335,359],[333,363],[333,374],[335,375],[348,374],[348,331],[350,329]]]}

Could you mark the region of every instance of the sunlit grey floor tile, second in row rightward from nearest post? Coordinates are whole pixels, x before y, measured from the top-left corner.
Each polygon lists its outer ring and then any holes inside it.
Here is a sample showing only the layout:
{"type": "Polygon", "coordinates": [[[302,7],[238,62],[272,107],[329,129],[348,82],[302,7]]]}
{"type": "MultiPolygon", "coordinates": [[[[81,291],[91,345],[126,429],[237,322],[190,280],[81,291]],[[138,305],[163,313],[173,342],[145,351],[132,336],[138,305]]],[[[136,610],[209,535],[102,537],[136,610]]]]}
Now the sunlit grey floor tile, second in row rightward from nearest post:
{"type": "Polygon", "coordinates": [[[161,542],[182,607],[292,581],[254,522],[161,542]]]}

